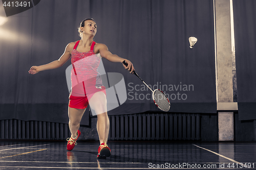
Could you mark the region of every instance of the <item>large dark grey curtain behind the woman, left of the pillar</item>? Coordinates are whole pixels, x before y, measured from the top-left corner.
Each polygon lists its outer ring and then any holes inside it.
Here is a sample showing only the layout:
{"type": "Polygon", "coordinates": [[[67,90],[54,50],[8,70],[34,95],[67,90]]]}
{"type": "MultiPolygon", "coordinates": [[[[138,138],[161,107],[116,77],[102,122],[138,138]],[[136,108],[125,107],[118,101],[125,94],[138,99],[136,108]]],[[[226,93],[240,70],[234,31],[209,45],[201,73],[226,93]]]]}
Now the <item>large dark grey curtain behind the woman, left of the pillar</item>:
{"type": "MultiPolygon", "coordinates": [[[[89,17],[98,26],[94,40],[132,61],[147,84],[193,85],[190,91],[165,91],[172,96],[178,92],[186,96],[186,100],[170,99],[170,112],[216,113],[213,9],[210,0],[44,0],[8,17],[0,26],[0,119],[68,122],[65,70],[71,62],[37,75],[28,74],[28,70],[32,65],[57,60],[69,42],[79,40],[77,27],[89,17]],[[189,48],[190,36],[198,38],[193,49],[189,48]]],[[[0,15],[6,16],[2,7],[0,15]]],[[[127,93],[151,93],[131,91],[129,83],[141,86],[142,82],[122,64],[102,60],[106,72],[124,76],[127,93]]],[[[152,100],[127,98],[109,114],[158,110],[152,100]]]]}

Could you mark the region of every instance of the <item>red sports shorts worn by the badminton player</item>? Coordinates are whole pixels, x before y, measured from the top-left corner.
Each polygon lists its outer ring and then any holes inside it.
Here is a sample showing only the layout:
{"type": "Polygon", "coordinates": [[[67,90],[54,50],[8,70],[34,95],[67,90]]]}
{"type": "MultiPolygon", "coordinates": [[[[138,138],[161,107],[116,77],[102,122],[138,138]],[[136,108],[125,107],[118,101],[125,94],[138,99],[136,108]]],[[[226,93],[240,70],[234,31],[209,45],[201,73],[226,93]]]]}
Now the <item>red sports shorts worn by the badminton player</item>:
{"type": "Polygon", "coordinates": [[[93,94],[98,91],[102,91],[106,95],[106,90],[104,86],[101,86],[101,89],[96,89],[92,94],[86,96],[69,96],[69,107],[75,109],[85,109],[89,105],[89,100],[92,98],[93,94]]]}

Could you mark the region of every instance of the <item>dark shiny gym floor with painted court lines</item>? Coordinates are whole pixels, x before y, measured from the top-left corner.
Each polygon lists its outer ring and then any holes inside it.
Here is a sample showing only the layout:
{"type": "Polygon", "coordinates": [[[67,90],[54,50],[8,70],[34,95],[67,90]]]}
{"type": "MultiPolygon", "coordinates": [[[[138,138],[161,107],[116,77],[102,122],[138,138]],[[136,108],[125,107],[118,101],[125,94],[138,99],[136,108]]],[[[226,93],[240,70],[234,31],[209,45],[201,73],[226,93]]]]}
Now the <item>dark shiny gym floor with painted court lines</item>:
{"type": "Polygon", "coordinates": [[[106,159],[98,142],[77,143],[0,141],[0,169],[256,169],[255,142],[109,141],[106,159]]]}

